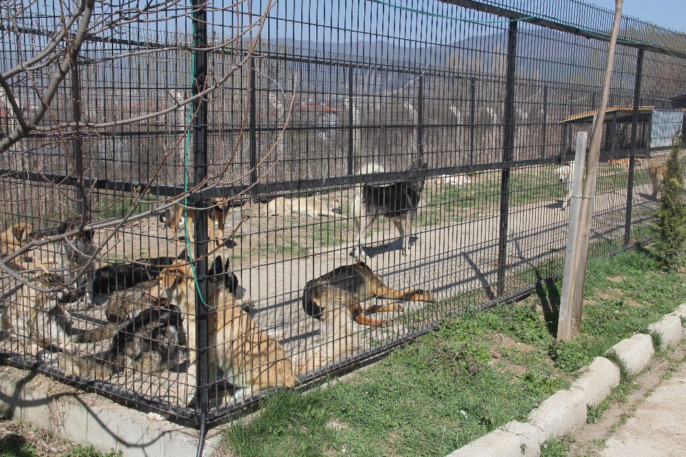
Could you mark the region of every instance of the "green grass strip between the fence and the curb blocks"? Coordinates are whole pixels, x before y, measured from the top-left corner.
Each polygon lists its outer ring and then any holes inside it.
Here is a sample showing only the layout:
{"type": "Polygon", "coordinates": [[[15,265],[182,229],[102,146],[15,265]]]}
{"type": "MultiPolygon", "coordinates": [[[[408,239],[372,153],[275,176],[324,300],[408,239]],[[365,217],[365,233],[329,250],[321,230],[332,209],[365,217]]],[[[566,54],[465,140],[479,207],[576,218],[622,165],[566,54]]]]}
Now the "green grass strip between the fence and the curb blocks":
{"type": "MultiPolygon", "coordinates": [[[[645,331],[686,297],[683,278],[659,272],[644,253],[593,259],[588,272],[576,340],[554,340],[554,319],[542,316],[541,307],[558,306],[561,283],[546,283],[522,303],[448,319],[327,388],[277,393],[256,417],[227,430],[224,445],[250,457],[445,455],[508,421],[524,420],[543,399],[567,388],[581,366],[645,331]]],[[[483,291],[472,294],[436,307],[448,314],[462,312],[471,298],[483,303],[483,291]]],[[[626,398],[631,382],[623,376],[606,404],[589,409],[589,420],[626,398]]],[[[551,441],[543,455],[563,455],[568,446],[569,438],[551,441]]]]}

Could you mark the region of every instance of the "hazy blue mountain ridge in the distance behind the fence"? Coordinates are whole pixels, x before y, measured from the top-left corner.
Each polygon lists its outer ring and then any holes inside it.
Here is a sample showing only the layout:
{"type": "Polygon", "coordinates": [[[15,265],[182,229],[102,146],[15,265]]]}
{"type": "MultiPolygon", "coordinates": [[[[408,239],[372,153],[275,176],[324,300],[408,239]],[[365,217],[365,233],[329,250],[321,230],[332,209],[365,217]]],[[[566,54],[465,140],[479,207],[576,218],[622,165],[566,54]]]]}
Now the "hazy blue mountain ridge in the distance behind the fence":
{"type": "MultiPolygon", "coordinates": [[[[507,32],[486,36],[471,36],[449,45],[409,47],[379,41],[356,41],[353,43],[318,43],[282,39],[277,42],[286,54],[305,58],[318,58],[332,62],[356,62],[379,67],[451,67],[464,73],[504,75],[507,52],[507,32]],[[285,49],[284,49],[285,48],[285,49]]],[[[523,30],[517,37],[516,71],[518,78],[532,78],[543,82],[597,84],[602,43],[580,36],[554,30],[523,30]],[[594,63],[595,62],[595,63],[594,63]],[[591,67],[596,67],[595,71],[591,67]]],[[[626,78],[632,84],[635,58],[620,54],[615,68],[617,78],[626,78]],[[626,73],[626,74],[625,74],[626,73]]],[[[301,80],[322,90],[335,91],[346,81],[344,69],[294,63],[301,80]],[[332,69],[333,68],[333,69],[332,69]]],[[[388,91],[407,84],[410,75],[388,71],[356,70],[357,82],[368,91],[388,91]]],[[[615,78],[615,84],[620,81],[615,78]]],[[[623,83],[623,82],[622,82],[623,83]]]]}

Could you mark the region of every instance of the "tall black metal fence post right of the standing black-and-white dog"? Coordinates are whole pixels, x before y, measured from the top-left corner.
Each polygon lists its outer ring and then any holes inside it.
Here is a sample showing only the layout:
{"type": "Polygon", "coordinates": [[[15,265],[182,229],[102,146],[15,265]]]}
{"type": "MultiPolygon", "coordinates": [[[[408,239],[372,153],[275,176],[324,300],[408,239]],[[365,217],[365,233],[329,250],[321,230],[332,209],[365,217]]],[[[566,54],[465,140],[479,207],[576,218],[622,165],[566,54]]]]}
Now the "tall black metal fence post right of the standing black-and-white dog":
{"type": "Polygon", "coordinates": [[[514,157],[514,64],[517,60],[517,21],[508,27],[508,58],[505,86],[505,128],[503,162],[500,180],[500,224],[498,235],[498,274],[496,293],[502,296],[505,290],[505,269],[507,266],[508,222],[510,211],[510,163],[514,157]]]}

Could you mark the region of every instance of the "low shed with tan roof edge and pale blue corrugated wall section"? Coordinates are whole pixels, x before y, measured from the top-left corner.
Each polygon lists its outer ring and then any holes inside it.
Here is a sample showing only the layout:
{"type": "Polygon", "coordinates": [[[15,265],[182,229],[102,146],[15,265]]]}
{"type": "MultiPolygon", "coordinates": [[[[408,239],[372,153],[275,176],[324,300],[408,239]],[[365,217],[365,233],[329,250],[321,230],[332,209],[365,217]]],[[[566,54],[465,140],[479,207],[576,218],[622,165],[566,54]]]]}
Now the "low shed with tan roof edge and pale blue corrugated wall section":
{"type": "MultiPolygon", "coordinates": [[[[670,147],[674,137],[683,137],[685,133],[684,113],[683,108],[655,109],[654,106],[639,106],[636,148],[670,147]]],[[[571,154],[574,147],[574,133],[582,130],[587,130],[590,133],[591,124],[597,115],[598,110],[593,110],[567,116],[561,121],[560,124],[563,124],[563,155],[571,154]]],[[[632,106],[608,106],[604,121],[601,153],[615,155],[631,148],[632,117],[632,106]]]]}

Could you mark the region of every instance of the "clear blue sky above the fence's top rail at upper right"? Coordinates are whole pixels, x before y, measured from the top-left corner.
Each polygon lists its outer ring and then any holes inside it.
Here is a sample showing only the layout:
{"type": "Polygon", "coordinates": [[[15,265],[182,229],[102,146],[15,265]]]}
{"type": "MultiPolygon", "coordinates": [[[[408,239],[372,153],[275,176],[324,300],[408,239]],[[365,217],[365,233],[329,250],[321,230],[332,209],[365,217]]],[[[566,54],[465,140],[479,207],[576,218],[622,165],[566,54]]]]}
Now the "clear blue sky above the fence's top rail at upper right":
{"type": "MultiPolygon", "coordinates": [[[[615,0],[587,0],[604,8],[615,8],[615,0]]],[[[686,32],[686,0],[624,0],[622,12],[643,21],[686,32]]]]}

